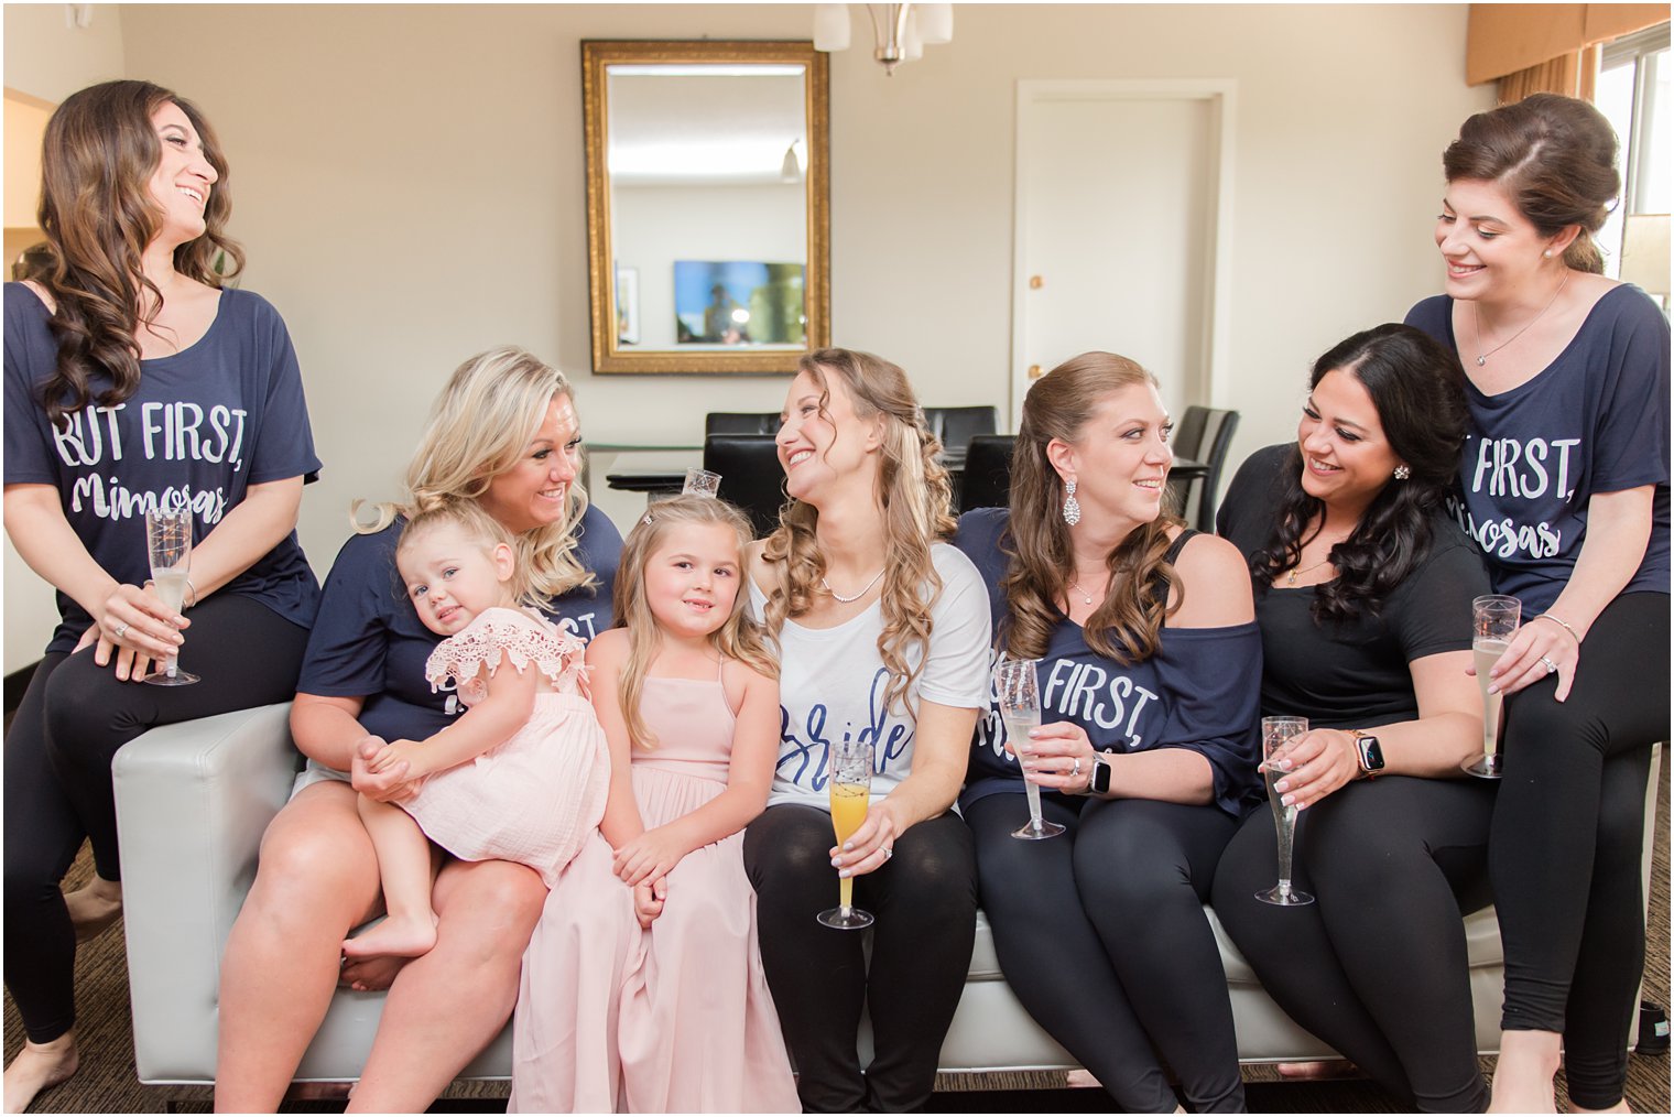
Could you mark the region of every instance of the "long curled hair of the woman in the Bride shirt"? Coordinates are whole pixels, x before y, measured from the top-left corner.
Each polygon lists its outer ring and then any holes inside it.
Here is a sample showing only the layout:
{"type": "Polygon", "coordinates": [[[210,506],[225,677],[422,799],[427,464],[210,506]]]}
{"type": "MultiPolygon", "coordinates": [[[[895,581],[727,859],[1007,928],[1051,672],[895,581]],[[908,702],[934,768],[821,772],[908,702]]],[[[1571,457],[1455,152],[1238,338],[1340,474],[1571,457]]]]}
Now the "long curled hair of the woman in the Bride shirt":
{"type": "MultiPolygon", "coordinates": [[[[899,365],[857,350],[822,348],[797,367],[820,387],[820,415],[829,415],[829,378],[837,377],[857,417],[881,415],[884,420],[882,467],[874,494],[884,516],[884,631],[877,636],[877,653],[889,672],[884,708],[894,708],[922,670],[922,660],[912,668],[907,656],[914,645],[929,648],[931,610],[942,589],[931,546],[956,528],[947,471],[936,461],[941,442],[924,425],[924,410],[899,365]]],[[[787,618],[814,608],[814,589],[825,576],[825,556],[815,539],[819,517],[812,504],[792,501],[763,546],[763,561],[782,564],[778,584],[767,600],[767,630],[775,638],[787,618]]]]}

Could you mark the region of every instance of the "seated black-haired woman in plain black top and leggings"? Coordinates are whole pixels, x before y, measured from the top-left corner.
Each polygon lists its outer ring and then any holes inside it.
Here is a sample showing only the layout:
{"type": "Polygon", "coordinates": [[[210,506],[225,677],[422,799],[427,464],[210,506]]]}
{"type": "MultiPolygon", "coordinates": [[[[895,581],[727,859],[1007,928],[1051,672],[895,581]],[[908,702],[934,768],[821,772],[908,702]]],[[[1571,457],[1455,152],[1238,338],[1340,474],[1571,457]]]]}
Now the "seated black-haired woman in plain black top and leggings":
{"type": "Polygon", "coordinates": [[[1262,807],[1220,861],[1214,906],[1274,1000],[1401,1104],[1481,1110],[1461,911],[1488,903],[1493,785],[1460,762],[1481,749],[1466,667],[1488,579],[1440,511],[1461,377],[1418,330],[1383,325],[1321,357],[1309,387],[1296,444],[1239,469],[1220,533],[1256,584],[1262,713],[1309,718],[1279,754],[1279,790],[1317,903],[1256,899],[1277,872],[1262,807]]]}

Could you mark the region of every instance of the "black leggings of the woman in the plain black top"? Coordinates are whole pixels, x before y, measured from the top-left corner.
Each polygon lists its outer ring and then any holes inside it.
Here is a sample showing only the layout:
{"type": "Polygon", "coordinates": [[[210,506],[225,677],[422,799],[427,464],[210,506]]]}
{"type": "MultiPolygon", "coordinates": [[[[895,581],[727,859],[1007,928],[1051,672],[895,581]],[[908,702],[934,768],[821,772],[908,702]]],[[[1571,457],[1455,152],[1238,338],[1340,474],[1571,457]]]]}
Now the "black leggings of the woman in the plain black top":
{"type": "Polygon", "coordinates": [[[1215,872],[1215,914],[1262,988],[1403,1107],[1480,1114],[1463,914],[1487,908],[1495,784],[1389,775],[1301,812],[1294,874],[1316,903],[1256,899],[1279,872],[1272,809],[1215,872]]]}

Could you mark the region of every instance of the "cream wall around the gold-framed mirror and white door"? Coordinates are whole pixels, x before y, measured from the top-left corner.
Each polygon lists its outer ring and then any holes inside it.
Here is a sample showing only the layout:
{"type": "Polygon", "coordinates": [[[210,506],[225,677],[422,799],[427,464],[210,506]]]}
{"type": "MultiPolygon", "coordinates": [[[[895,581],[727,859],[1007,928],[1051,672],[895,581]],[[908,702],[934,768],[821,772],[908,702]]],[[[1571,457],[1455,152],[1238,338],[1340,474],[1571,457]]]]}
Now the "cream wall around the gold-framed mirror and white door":
{"type": "MultiPolygon", "coordinates": [[[[1212,400],[1244,414],[1235,457],[1289,437],[1314,355],[1440,286],[1440,154],[1490,104],[1463,84],[1465,5],[956,12],[954,42],[894,77],[855,15],[830,67],[834,340],[899,362],[924,402],[1006,402],[1024,77],[1237,80],[1234,365],[1212,400]]],[[[706,410],[778,409],[778,378],[589,372],[579,40],[705,35],[809,39],[812,10],[122,8],[127,74],[214,121],[244,285],[296,340],[326,462],[301,517],[318,569],[350,497],[397,492],[437,387],[489,345],[574,375],[598,440],[691,442],[706,410]]]]}

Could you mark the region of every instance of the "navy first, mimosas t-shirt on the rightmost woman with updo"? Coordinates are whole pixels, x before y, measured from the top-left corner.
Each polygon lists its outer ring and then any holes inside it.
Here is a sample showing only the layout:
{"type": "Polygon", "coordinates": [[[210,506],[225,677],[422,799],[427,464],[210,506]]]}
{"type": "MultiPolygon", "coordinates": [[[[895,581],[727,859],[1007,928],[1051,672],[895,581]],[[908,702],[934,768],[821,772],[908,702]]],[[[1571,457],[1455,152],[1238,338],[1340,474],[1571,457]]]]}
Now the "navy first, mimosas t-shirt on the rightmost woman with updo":
{"type": "MultiPolygon", "coordinates": [[[[1448,348],[1453,300],[1406,315],[1448,348]]],[[[1461,496],[1448,511],[1488,558],[1495,593],[1525,616],[1552,606],[1587,538],[1594,492],[1656,486],[1651,543],[1624,593],[1669,591],[1669,323],[1637,286],[1605,291],[1535,378],[1485,395],[1466,380],[1461,496]]]]}

